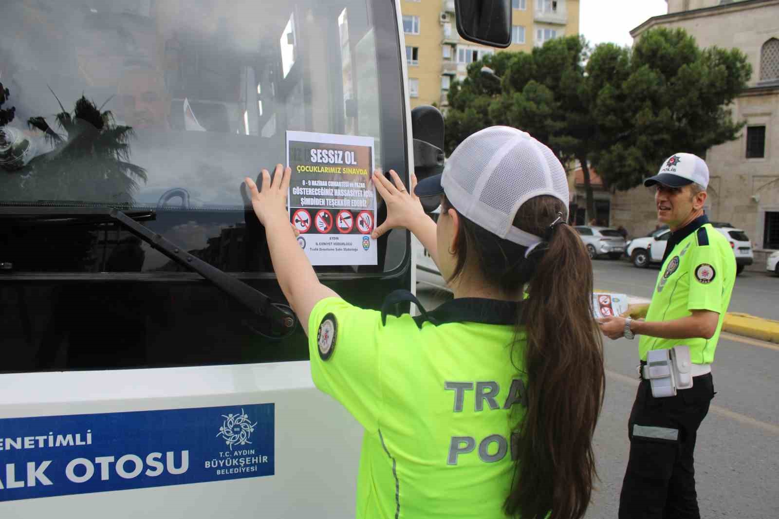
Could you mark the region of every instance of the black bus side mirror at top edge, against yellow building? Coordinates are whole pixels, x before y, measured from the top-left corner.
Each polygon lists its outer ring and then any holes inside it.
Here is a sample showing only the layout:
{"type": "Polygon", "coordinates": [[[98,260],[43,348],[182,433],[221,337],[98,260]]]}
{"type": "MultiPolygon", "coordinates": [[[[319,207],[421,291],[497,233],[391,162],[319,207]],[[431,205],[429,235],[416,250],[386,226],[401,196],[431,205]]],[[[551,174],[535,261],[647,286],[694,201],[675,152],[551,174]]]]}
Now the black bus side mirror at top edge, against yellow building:
{"type": "Polygon", "coordinates": [[[499,48],[511,44],[510,0],[454,0],[454,5],[464,40],[499,48]]]}

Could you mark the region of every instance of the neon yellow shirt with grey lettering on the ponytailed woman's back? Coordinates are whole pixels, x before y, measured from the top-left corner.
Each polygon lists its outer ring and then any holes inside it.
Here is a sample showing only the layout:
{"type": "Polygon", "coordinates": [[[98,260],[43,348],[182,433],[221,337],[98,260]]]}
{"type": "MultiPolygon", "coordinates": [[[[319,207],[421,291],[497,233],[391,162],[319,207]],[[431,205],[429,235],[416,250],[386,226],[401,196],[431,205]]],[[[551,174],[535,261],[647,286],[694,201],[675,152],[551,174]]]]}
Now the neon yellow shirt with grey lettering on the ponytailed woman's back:
{"type": "Polygon", "coordinates": [[[382,324],[340,298],[315,305],[314,383],[365,427],[357,517],[505,517],[526,398],[509,359],[519,306],[460,298],[382,324]]]}

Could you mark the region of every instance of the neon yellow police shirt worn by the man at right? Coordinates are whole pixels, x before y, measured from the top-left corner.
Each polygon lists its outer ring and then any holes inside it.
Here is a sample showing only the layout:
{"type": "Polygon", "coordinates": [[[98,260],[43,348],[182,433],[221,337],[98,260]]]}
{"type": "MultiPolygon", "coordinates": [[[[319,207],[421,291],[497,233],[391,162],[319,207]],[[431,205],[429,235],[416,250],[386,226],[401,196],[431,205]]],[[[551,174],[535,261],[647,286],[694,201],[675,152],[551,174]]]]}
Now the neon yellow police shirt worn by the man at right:
{"type": "Polygon", "coordinates": [[[710,364],[733,292],[735,256],[728,240],[711,227],[705,216],[675,231],[671,240],[668,247],[672,249],[657,275],[646,320],[670,321],[691,316],[692,310],[711,310],[720,314],[717,331],[710,339],[642,335],[639,355],[645,361],[647,351],[686,344],[694,364],[710,364]]]}

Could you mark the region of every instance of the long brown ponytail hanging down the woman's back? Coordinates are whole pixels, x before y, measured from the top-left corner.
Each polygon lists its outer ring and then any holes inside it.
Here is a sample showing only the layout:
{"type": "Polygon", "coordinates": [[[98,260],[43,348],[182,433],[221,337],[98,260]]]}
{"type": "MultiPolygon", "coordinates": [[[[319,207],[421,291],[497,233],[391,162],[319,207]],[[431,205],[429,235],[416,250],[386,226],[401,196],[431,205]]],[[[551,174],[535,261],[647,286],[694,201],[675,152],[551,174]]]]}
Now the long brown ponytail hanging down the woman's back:
{"type": "Polygon", "coordinates": [[[527,411],[515,430],[519,455],[506,512],[542,519],[552,510],[551,519],[578,519],[597,478],[592,440],[605,389],[592,265],[566,224],[555,228],[536,263],[523,312],[527,411]]]}

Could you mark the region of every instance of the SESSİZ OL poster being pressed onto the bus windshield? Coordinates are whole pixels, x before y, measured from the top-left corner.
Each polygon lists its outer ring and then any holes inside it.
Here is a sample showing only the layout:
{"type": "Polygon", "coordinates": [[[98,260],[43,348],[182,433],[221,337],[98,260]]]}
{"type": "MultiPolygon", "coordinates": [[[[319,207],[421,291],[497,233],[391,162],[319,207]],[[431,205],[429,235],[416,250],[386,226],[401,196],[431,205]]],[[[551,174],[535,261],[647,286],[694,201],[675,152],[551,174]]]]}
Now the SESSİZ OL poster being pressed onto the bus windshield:
{"type": "Polygon", "coordinates": [[[375,265],[373,137],[287,132],[290,221],[312,265],[375,265]]]}

